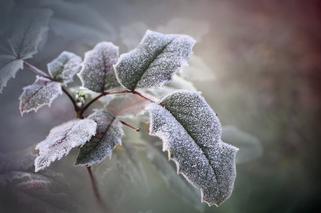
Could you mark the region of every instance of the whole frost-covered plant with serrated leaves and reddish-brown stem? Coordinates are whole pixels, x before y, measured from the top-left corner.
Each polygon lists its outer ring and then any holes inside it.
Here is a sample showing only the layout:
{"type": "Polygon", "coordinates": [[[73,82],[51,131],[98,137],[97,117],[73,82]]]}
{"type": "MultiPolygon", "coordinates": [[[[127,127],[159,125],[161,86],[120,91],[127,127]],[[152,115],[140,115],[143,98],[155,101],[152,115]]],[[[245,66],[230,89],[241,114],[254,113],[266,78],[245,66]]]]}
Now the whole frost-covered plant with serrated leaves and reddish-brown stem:
{"type": "Polygon", "coordinates": [[[219,205],[229,198],[238,149],[222,141],[222,126],[213,109],[195,91],[173,89],[160,100],[151,96],[187,65],[195,44],[193,38],[148,30],[139,45],[128,53],[119,56],[117,46],[101,42],[83,60],[74,53],[62,52],[44,72],[27,59],[37,52],[51,12],[28,12],[39,13],[37,20],[31,20],[29,27],[21,25],[10,32],[9,52],[0,56],[1,91],[10,78],[26,67],[36,74],[36,80],[23,88],[21,115],[50,106],[62,94],[71,100],[76,115],[75,119],[54,127],[38,143],[35,172],[78,148],[76,165],[88,169],[96,198],[102,203],[90,168],[111,158],[113,149],[122,145],[124,126],[139,131],[121,120],[115,110],[109,110],[108,103],[113,103],[114,108],[121,107],[126,115],[149,113],[149,134],[162,140],[163,151],[175,162],[177,174],[201,191],[202,202],[219,205]],[[81,85],[70,86],[77,77],[81,85]],[[123,99],[115,104],[120,96],[123,99]],[[108,103],[95,105],[105,97],[110,97],[108,103]],[[138,98],[136,102],[132,97],[138,98]]]}

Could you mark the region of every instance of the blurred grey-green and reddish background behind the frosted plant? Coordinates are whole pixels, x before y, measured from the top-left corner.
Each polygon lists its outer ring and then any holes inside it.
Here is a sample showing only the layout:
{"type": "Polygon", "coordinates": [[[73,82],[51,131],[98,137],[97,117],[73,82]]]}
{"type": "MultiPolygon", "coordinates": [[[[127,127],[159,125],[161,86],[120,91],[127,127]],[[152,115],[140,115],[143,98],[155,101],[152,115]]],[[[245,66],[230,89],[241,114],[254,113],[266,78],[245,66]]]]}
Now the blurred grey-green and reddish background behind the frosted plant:
{"type": "MultiPolygon", "coordinates": [[[[113,212],[320,212],[320,1],[0,2],[1,22],[10,23],[13,7],[53,11],[30,60],[44,70],[63,50],[83,57],[100,41],[127,52],[146,29],[197,40],[181,76],[218,113],[223,139],[240,148],[234,192],[220,207],[201,204],[162,153],[141,145],[155,139],[126,129],[128,146],[93,169],[113,212]]],[[[73,166],[77,153],[32,173],[33,146],[74,116],[62,96],[21,117],[18,97],[33,81],[20,71],[0,96],[0,212],[98,212],[85,169],[73,166]]]]}

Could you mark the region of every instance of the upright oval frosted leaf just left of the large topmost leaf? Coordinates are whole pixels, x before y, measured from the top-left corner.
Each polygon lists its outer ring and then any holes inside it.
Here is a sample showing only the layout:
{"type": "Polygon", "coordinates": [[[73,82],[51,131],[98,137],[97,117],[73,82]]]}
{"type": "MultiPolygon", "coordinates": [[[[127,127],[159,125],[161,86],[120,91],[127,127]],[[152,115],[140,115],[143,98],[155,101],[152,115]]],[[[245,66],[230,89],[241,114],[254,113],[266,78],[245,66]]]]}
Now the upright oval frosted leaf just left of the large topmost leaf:
{"type": "Polygon", "coordinates": [[[117,59],[118,47],[109,42],[101,42],[88,51],[79,73],[83,86],[95,92],[118,87],[113,67],[117,59]]]}

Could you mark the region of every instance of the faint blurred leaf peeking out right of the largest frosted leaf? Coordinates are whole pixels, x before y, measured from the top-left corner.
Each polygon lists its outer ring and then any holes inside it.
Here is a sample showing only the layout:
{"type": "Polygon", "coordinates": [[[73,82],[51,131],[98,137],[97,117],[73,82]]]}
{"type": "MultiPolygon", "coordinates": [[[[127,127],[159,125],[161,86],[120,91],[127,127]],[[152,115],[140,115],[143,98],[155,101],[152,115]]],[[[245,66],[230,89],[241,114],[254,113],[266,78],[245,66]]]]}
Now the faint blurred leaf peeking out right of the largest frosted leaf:
{"type": "Polygon", "coordinates": [[[222,138],[224,141],[239,147],[240,151],[236,156],[236,163],[238,164],[253,161],[263,154],[260,140],[235,126],[223,126],[222,138]]]}

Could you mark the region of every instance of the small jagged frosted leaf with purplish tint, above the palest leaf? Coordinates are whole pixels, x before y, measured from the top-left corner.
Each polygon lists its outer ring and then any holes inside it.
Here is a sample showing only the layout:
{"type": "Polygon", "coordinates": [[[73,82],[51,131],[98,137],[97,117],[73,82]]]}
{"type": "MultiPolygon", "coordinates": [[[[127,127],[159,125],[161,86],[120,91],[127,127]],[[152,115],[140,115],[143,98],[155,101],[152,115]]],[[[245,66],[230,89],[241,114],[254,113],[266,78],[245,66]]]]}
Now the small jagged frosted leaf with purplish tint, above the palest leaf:
{"type": "Polygon", "coordinates": [[[37,111],[41,107],[50,106],[53,100],[62,94],[61,85],[58,82],[51,81],[44,77],[37,76],[36,81],[23,88],[19,97],[20,113],[37,111]]]}

